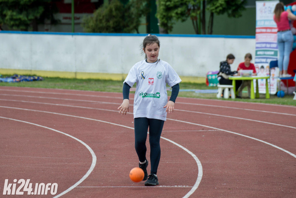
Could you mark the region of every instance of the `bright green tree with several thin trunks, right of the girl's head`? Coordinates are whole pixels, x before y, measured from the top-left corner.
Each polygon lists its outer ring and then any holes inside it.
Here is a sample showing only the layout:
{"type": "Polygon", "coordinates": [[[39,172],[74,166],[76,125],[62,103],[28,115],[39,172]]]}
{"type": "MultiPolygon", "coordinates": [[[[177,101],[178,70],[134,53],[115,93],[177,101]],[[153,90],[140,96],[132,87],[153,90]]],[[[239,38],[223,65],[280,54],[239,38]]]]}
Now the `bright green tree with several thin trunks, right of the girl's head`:
{"type": "Polygon", "coordinates": [[[171,31],[176,21],[184,22],[190,17],[196,34],[201,31],[206,34],[205,11],[210,12],[208,22],[208,34],[212,34],[214,14],[222,15],[227,13],[229,17],[240,17],[244,10],[246,0],[158,0],[156,17],[160,26],[166,31],[171,31]]]}

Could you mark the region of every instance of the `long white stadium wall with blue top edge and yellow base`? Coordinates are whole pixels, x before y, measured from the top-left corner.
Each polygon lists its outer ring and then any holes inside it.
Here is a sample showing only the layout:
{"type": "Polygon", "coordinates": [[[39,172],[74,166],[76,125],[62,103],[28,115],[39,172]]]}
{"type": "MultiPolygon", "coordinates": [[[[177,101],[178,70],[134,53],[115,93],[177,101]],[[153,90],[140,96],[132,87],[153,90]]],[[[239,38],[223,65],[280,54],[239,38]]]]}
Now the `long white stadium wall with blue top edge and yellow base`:
{"type": "MultiPolygon", "coordinates": [[[[0,31],[0,74],[121,80],[144,59],[140,49],[144,36],[0,31]]],[[[229,53],[236,57],[232,70],[244,61],[246,53],[255,56],[254,36],[158,36],[159,58],[187,81],[205,82],[207,72],[219,70],[220,61],[229,53]]]]}

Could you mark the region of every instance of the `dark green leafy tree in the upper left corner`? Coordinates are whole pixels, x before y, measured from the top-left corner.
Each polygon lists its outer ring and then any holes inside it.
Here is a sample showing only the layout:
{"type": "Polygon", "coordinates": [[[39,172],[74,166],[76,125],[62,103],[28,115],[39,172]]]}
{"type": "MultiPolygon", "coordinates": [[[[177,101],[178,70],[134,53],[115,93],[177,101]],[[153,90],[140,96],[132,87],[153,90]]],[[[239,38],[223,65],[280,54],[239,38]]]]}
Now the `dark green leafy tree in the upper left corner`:
{"type": "Polygon", "coordinates": [[[50,0],[0,0],[0,24],[10,29],[38,31],[38,18],[44,14],[50,0]]]}

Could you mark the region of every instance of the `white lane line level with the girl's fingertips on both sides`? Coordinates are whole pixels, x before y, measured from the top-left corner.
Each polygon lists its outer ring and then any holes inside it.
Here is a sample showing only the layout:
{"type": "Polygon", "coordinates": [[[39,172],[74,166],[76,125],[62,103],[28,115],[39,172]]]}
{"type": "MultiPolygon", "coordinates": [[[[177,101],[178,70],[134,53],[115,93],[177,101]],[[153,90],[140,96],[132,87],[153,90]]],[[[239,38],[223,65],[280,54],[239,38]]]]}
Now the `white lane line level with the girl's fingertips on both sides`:
{"type": "MultiPolygon", "coordinates": [[[[92,108],[92,107],[83,107],[83,106],[75,106],[75,105],[64,105],[64,104],[55,104],[55,103],[41,103],[41,102],[31,102],[31,101],[24,101],[24,100],[8,100],[8,99],[0,99],[0,100],[6,100],[6,101],[15,101],[15,102],[24,102],[24,103],[36,103],[36,104],[47,104],[47,105],[55,105],[55,106],[68,106],[68,107],[76,107],[76,108],[86,108],[86,109],[94,109],[94,110],[100,110],[100,111],[111,111],[111,112],[118,112],[118,110],[109,110],[109,109],[102,109],[102,108],[92,108]]],[[[118,105],[120,105],[118,103],[118,105]]],[[[132,105],[130,105],[132,106],[132,105]]],[[[4,107],[4,106],[3,106],[4,107]]],[[[197,114],[207,114],[207,115],[212,115],[212,116],[221,116],[221,117],[228,117],[228,118],[233,118],[233,119],[242,119],[242,120],[248,120],[252,122],[260,122],[260,123],[265,123],[265,124],[273,124],[281,127],[289,127],[289,128],[294,128],[292,126],[287,126],[287,125],[282,125],[282,124],[275,124],[272,122],[264,122],[260,120],[253,120],[253,119],[247,119],[247,118],[241,118],[241,117],[233,117],[233,116],[224,116],[224,115],[219,115],[219,114],[210,114],[210,113],[204,113],[204,112],[199,112],[199,111],[188,111],[188,110],[181,110],[181,109],[174,109],[176,111],[185,111],[185,112],[190,112],[190,113],[197,113],[197,114]]],[[[128,113],[127,114],[133,114],[133,113],[128,113]]]]}

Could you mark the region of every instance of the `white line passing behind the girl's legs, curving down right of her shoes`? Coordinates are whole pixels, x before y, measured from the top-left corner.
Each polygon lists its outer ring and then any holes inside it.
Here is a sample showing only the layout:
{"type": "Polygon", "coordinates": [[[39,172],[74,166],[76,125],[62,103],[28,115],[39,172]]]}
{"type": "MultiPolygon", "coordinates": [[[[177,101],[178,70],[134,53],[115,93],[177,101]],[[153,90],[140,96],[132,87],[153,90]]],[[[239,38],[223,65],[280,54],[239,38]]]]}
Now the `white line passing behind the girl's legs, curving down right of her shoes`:
{"type": "MultiPolygon", "coordinates": [[[[2,108],[12,108],[12,109],[18,109],[18,110],[25,110],[25,111],[36,111],[36,112],[42,112],[42,113],[49,113],[49,114],[56,114],[56,115],[62,115],[62,116],[70,116],[70,117],[75,117],[75,118],[81,118],[81,119],[87,119],[87,120],[94,120],[94,121],[98,121],[98,122],[103,122],[103,123],[108,123],[108,124],[113,124],[113,125],[117,125],[117,126],[121,126],[121,127],[126,127],[128,129],[133,129],[133,127],[128,127],[128,126],[124,126],[124,125],[121,125],[121,124],[115,124],[115,123],[112,123],[112,122],[106,122],[106,121],[102,121],[102,120],[97,120],[97,119],[91,119],[91,118],[86,118],[86,117],[81,117],[81,116],[73,116],[73,115],[68,115],[68,114],[59,114],[59,113],[55,113],[55,112],[49,112],[49,111],[39,111],[39,110],[33,110],[33,109],[24,109],[24,108],[16,108],[16,107],[4,107],[4,106],[0,106],[2,108]]],[[[0,117],[1,118],[1,117],[0,117]]],[[[164,137],[160,137],[164,140],[167,140],[173,144],[175,144],[176,146],[180,147],[181,149],[183,149],[184,151],[186,151],[187,153],[189,153],[195,160],[195,162],[197,163],[197,167],[198,167],[198,174],[197,174],[197,180],[194,184],[194,186],[192,187],[192,189],[184,196],[184,198],[187,198],[189,197],[196,189],[197,187],[199,186],[200,184],[200,181],[202,179],[202,164],[200,162],[200,160],[196,157],[196,155],[194,155],[191,151],[189,151],[188,149],[186,149],[185,147],[181,146],[180,144],[172,141],[172,140],[169,140],[167,138],[164,138],[164,137]]],[[[73,185],[74,186],[74,185],[73,185]]],[[[71,187],[70,187],[71,188],[71,187]]],[[[69,189],[70,189],[69,188],[69,189]]],[[[74,188],[74,187],[73,187],[74,188]]],[[[72,189],[73,189],[72,188],[72,189]]],[[[72,190],[70,189],[70,190],[72,190]]],[[[70,191],[69,190],[69,191],[70,191]]],[[[66,192],[67,193],[67,192],[66,192]]],[[[56,196],[57,197],[57,196],[56,196]]]]}

